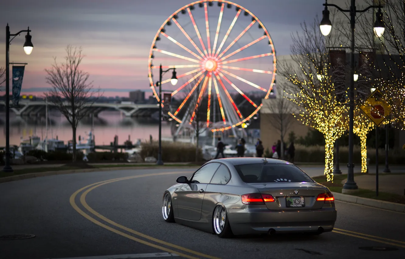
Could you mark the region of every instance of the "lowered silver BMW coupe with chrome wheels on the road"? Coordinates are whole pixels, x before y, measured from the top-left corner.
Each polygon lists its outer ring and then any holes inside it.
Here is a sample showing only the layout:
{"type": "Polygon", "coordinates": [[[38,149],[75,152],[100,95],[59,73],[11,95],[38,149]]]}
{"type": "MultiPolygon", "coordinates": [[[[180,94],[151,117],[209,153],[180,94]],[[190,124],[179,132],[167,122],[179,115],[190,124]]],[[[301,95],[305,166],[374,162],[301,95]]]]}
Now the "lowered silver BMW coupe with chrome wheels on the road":
{"type": "Polygon", "coordinates": [[[163,194],[162,216],[219,237],[332,231],[335,199],[300,168],[266,158],[211,160],[163,194]]]}

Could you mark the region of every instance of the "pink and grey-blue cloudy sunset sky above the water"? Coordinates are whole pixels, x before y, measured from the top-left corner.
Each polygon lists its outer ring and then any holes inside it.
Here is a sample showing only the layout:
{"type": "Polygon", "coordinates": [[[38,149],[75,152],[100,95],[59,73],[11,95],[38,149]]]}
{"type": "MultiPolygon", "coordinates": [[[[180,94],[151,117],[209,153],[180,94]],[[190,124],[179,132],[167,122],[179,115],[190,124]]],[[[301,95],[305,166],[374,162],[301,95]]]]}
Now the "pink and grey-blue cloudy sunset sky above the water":
{"type": "MultiPolygon", "coordinates": [[[[47,90],[49,85],[45,82],[44,69],[51,66],[53,57],[56,57],[59,62],[63,61],[64,48],[68,44],[83,47],[83,53],[86,57],[81,69],[90,73],[90,79],[94,81],[94,86],[102,88],[105,96],[128,96],[128,91],[134,89],[150,91],[148,87],[148,54],[153,38],[162,23],[173,12],[190,2],[190,0],[6,1],[0,9],[0,20],[3,28],[8,22],[11,33],[26,29],[27,26],[30,26],[32,30],[34,50],[31,55],[27,56],[23,52],[22,45],[25,33],[17,36],[10,46],[11,62],[28,63],[21,92],[42,95],[47,90]]],[[[301,22],[312,22],[315,15],[322,15],[322,3],[324,1],[234,0],[234,2],[254,13],[266,26],[273,40],[276,54],[279,56],[290,53],[291,33],[300,30],[301,22]]],[[[198,9],[200,8],[196,6],[193,13],[200,12],[204,15],[204,9],[198,9]]],[[[219,10],[220,8],[214,3],[208,11],[211,44],[215,35],[219,10]],[[211,8],[217,11],[211,11],[211,8]],[[211,20],[215,22],[211,22],[211,20]]],[[[234,8],[224,10],[224,21],[232,21],[235,14],[234,8]]],[[[190,37],[194,37],[196,32],[191,25],[190,17],[188,15],[183,16],[185,17],[179,17],[179,23],[190,33],[190,37]]],[[[196,14],[196,16],[198,15],[196,14]]],[[[242,18],[240,19],[242,20],[242,18]]],[[[243,19],[249,24],[248,18],[243,19]]],[[[197,19],[196,22],[198,23],[197,19]]],[[[234,33],[236,36],[245,26],[246,24],[239,27],[235,26],[234,33]]],[[[205,37],[206,40],[205,24],[198,24],[198,28],[201,36],[205,37]]],[[[228,25],[224,25],[221,28],[221,33],[224,35],[227,29],[228,25]]],[[[170,30],[167,30],[170,31],[173,38],[186,45],[185,38],[181,38],[184,35],[174,24],[171,25],[170,30]]],[[[256,25],[250,30],[252,30],[252,35],[249,37],[252,39],[256,39],[254,33],[263,35],[262,31],[256,32],[259,30],[256,25]]],[[[169,34],[169,32],[167,33],[169,34]]],[[[221,33],[218,41],[223,38],[221,33]]],[[[224,48],[236,36],[226,41],[224,48]]],[[[235,44],[235,46],[243,46],[252,41],[249,37],[241,41],[242,44],[235,44]]],[[[0,45],[3,47],[0,49],[0,66],[4,66],[5,60],[4,38],[5,29],[2,29],[0,31],[0,45]]],[[[199,43],[198,38],[194,37],[193,39],[199,43]]],[[[188,44],[190,45],[189,42],[188,44]]],[[[171,51],[166,43],[162,42],[159,46],[162,49],[166,47],[166,50],[171,51]]],[[[265,42],[252,50],[243,51],[241,56],[252,56],[254,51],[259,54],[268,52],[268,49],[261,49],[264,47],[266,47],[265,42]]],[[[190,47],[191,49],[192,47],[190,47]]],[[[195,51],[195,49],[193,50],[195,51]]],[[[173,52],[177,53],[174,50],[173,52]]],[[[160,62],[164,64],[175,62],[171,58],[162,56],[160,62]]],[[[251,65],[264,67],[263,70],[268,70],[271,67],[271,61],[270,64],[263,62],[266,61],[251,63],[251,65]]],[[[158,64],[154,63],[154,65],[158,64]]],[[[245,74],[240,75],[243,77],[245,74]]],[[[158,75],[155,75],[154,78],[157,80],[158,75]]],[[[252,76],[246,75],[246,78],[250,80],[252,76]]],[[[261,82],[264,81],[259,83],[261,82]]]]}

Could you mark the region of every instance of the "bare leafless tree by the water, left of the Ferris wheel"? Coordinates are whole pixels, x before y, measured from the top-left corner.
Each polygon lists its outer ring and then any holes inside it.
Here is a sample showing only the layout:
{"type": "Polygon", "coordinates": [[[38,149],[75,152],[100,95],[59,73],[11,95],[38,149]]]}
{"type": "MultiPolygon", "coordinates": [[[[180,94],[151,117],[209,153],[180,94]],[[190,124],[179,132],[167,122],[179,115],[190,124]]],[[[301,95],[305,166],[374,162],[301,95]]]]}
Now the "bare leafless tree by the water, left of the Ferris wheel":
{"type": "Polygon", "coordinates": [[[100,96],[100,89],[94,91],[92,82],[89,82],[89,73],[80,70],[83,60],[81,47],[66,47],[65,61],[54,63],[47,72],[46,80],[51,90],[45,93],[50,101],[66,117],[72,126],[73,162],[76,161],[76,129],[79,121],[89,114],[89,107],[100,96]]]}

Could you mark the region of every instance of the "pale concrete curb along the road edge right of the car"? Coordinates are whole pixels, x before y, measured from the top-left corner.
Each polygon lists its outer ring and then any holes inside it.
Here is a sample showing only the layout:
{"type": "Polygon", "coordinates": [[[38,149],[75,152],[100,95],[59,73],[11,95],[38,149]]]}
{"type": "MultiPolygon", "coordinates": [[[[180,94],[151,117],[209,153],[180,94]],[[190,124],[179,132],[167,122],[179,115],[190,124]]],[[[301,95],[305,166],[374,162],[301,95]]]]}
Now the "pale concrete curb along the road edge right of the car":
{"type": "Polygon", "coordinates": [[[389,201],[379,201],[379,200],[369,199],[369,198],[362,198],[362,197],[343,194],[343,193],[339,193],[339,192],[332,192],[332,194],[337,201],[356,203],[356,204],[360,204],[360,205],[366,205],[369,207],[391,210],[394,212],[405,212],[405,204],[393,203],[393,202],[389,202],[389,201]]]}

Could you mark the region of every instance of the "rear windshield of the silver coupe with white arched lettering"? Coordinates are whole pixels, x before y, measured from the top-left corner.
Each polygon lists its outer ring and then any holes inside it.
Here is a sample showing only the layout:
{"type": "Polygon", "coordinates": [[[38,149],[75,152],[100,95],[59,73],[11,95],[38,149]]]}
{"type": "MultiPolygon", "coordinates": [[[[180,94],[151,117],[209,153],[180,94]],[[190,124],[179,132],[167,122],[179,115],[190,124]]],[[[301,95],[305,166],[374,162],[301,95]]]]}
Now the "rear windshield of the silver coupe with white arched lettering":
{"type": "Polygon", "coordinates": [[[313,183],[306,173],[292,164],[242,164],[235,166],[245,183],[313,183]]]}

